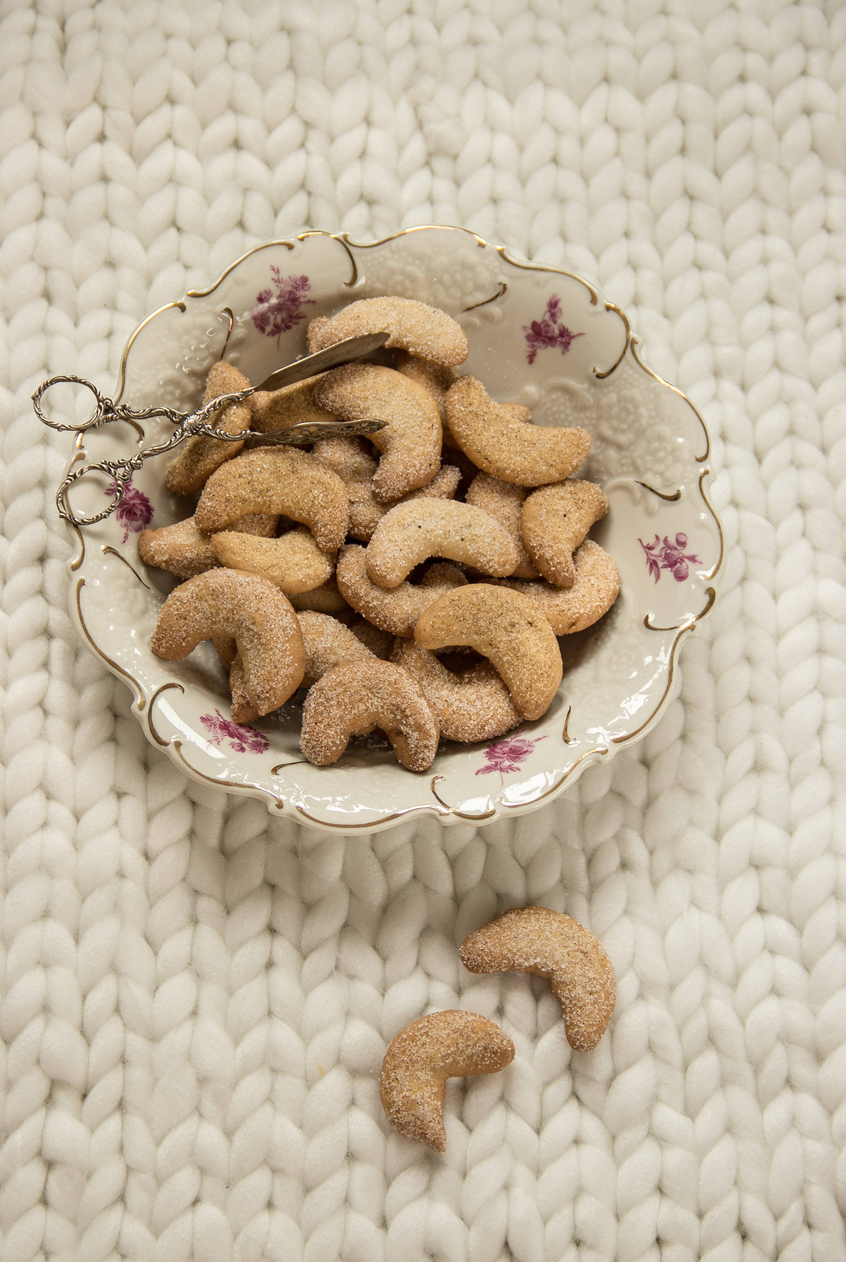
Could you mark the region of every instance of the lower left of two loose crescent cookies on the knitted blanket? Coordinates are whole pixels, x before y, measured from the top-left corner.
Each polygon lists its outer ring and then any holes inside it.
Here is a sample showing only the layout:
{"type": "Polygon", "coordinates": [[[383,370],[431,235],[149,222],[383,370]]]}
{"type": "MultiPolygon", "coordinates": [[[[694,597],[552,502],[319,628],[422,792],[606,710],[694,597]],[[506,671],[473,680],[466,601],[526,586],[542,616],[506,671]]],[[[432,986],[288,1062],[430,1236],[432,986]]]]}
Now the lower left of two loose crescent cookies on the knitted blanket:
{"type": "Polygon", "coordinates": [[[444,1152],[447,1078],[496,1074],[514,1060],[514,1044],[499,1026],[457,1008],[412,1021],[393,1039],[381,1063],[379,1094],[395,1131],[444,1152]]]}

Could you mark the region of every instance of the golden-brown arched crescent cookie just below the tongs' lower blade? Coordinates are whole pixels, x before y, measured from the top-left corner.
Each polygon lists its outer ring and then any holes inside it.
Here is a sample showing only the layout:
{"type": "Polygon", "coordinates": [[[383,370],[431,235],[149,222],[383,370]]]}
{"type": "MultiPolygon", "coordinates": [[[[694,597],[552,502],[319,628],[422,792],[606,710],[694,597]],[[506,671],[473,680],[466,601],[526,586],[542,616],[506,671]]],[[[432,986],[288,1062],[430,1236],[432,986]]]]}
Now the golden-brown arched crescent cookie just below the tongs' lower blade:
{"type": "Polygon", "coordinates": [[[350,501],[337,473],[313,456],[260,447],[212,473],[194,521],[203,534],[216,534],[245,512],[284,514],[308,526],[322,551],[337,551],[350,501]]]}

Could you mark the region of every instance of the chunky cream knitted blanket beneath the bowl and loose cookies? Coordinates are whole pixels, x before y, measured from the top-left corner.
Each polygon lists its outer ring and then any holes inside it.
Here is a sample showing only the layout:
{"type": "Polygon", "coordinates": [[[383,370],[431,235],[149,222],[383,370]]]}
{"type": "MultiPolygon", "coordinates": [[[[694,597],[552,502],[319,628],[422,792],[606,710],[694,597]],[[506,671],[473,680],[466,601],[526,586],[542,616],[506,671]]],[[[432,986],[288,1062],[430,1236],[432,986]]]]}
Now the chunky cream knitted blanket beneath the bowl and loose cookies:
{"type": "Polygon", "coordinates": [[[6,1262],[845,1258],[846,9],[0,3],[6,1262]],[[640,746],[487,829],[184,780],[66,613],[29,395],[253,244],[462,223],[596,279],[715,439],[722,594],[640,746]],[[457,944],[534,901],[610,1034],[457,944]],[[516,1059],[389,1131],[424,1011],[516,1059]]]}

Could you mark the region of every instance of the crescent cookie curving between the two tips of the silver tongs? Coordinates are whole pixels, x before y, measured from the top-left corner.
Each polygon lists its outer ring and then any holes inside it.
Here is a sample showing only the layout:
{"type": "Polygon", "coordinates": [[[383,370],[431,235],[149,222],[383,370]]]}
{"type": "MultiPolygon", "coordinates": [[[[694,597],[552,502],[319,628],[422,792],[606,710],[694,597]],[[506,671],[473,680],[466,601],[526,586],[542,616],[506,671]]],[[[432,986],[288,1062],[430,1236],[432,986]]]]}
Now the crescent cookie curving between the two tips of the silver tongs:
{"type": "Polygon", "coordinates": [[[381,452],[372,493],[383,504],[431,482],[441,464],[441,416],[417,381],[379,363],[345,363],[314,387],[314,399],[342,420],[376,418],[388,427],[370,435],[381,452]]]}

